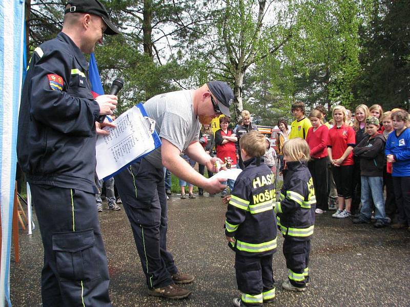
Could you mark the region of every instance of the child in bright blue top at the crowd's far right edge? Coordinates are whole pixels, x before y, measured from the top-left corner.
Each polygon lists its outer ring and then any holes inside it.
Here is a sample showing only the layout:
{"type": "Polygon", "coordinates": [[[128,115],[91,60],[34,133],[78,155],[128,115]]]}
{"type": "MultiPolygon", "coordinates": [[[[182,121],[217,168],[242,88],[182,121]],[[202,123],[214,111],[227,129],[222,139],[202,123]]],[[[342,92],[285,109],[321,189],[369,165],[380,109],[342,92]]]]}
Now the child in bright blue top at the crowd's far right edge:
{"type": "MultiPolygon", "coordinates": [[[[392,113],[394,131],[388,135],[385,155],[393,163],[393,188],[399,211],[393,229],[410,226],[410,129],[408,114],[402,109],[392,113]]],[[[407,228],[410,231],[410,227],[407,228]]]]}

